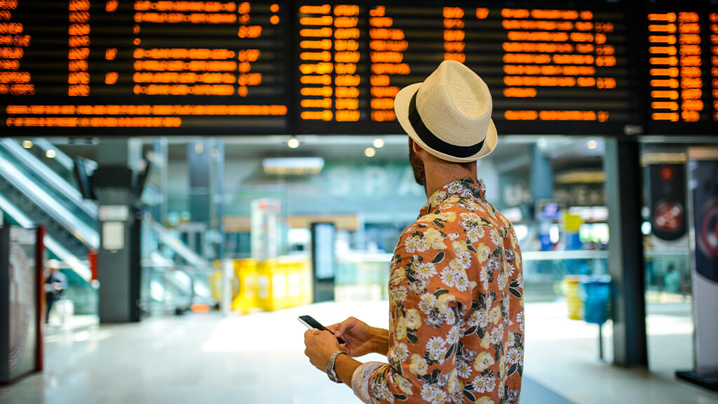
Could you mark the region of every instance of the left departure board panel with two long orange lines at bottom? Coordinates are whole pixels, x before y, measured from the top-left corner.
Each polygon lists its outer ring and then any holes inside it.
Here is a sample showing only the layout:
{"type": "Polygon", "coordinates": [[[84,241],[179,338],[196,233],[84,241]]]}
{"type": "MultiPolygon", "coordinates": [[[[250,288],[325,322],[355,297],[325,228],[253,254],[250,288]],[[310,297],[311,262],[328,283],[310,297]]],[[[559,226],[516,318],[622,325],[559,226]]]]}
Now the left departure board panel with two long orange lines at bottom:
{"type": "Polygon", "coordinates": [[[0,0],[3,132],[286,132],[288,15],[281,1],[0,0]]]}

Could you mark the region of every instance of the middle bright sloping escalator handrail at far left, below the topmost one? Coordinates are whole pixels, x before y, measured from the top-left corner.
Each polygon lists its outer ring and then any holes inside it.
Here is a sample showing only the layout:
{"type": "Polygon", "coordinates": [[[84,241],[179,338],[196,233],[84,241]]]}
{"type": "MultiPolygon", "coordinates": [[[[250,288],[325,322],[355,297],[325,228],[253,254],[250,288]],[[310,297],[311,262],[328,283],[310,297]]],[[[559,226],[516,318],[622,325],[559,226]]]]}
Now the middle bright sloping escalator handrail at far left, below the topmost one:
{"type": "Polygon", "coordinates": [[[29,196],[37,206],[45,211],[45,214],[49,215],[53,220],[57,221],[57,223],[62,224],[62,226],[73,233],[80,242],[83,242],[90,248],[98,249],[100,237],[97,230],[90,228],[90,226],[82,220],[78,219],[75,214],[68,211],[65,206],[53,201],[50,194],[27,178],[27,175],[21,173],[17,167],[14,167],[14,165],[2,155],[0,155],[0,175],[25,196],[29,196]]]}

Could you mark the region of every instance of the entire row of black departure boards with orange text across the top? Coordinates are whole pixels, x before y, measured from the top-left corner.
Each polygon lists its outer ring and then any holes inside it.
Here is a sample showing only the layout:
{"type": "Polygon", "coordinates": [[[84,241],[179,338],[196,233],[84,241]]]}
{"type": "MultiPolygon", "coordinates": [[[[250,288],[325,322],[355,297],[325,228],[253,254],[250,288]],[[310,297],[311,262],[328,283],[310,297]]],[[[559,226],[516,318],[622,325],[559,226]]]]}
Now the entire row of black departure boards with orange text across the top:
{"type": "Polygon", "coordinates": [[[500,134],[718,132],[708,2],[454,3],[0,0],[2,132],[397,134],[449,59],[500,134]]]}

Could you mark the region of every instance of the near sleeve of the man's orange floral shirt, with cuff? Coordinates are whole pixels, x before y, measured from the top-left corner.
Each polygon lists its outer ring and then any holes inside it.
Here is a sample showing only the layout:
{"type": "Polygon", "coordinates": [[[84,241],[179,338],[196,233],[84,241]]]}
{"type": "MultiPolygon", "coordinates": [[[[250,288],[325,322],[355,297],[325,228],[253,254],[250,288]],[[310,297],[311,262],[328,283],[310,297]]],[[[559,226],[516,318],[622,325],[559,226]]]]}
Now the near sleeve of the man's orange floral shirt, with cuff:
{"type": "Polygon", "coordinates": [[[422,223],[402,234],[389,279],[388,364],[368,362],[353,377],[364,403],[463,401],[456,356],[461,306],[471,304],[470,258],[457,254],[451,237],[422,223]]]}

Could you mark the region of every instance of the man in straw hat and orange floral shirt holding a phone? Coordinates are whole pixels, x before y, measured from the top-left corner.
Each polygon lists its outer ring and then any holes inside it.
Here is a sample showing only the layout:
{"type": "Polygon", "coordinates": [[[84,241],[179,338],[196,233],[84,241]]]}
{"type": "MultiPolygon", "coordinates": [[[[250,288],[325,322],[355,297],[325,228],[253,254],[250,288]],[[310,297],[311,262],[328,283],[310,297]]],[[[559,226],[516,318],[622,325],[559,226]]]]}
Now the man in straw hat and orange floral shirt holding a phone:
{"type": "Polygon", "coordinates": [[[391,260],[389,329],[348,318],[331,332],[308,330],[304,353],[365,403],[518,403],[521,253],[476,173],[476,160],[497,142],[488,87],[465,65],[444,61],[402,89],[394,109],[428,201],[391,260]],[[388,364],[352,358],[370,352],[386,354],[388,364]]]}

